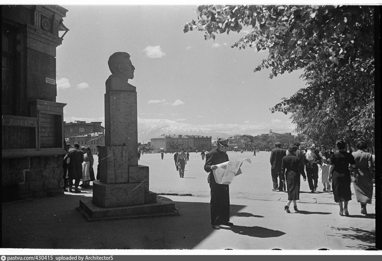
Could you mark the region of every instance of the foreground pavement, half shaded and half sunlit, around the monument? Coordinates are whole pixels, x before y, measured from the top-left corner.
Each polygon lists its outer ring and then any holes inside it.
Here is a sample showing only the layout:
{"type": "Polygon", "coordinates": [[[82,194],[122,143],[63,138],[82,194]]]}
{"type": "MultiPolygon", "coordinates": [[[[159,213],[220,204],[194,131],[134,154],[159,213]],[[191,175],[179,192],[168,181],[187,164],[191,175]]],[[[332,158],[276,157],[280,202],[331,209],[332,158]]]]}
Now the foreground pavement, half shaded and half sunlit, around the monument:
{"type": "Polygon", "coordinates": [[[207,197],[167,196],[179,216],[87,222],[76,211],[91,191],[2,205],[3,248],[363,250],[374,247],[375,210],[339,216],[332,204],[299,203],[287,214],[285,202],[231,198],[233,227],[210,226],[207,197]]]}

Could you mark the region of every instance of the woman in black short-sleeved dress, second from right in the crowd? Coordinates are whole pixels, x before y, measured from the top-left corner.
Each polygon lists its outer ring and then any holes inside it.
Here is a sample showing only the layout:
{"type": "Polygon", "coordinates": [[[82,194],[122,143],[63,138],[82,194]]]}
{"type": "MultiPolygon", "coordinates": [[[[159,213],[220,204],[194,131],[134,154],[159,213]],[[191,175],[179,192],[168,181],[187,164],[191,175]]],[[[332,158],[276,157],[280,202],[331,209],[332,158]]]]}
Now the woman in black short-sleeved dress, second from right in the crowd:
{"type": "Polygon", "coordinates": [[[351,153],[346,152],[346,143],[337,140],[338,152],[330,156],[329,181],[332,180],[334,201],[340,206],[340,216],[349,216],[348,202],[351,200],[351,174],[355,168],[355,160],[351,153]],[[350,165],[350,167],[349,167],[350,165]],[[342,202],[344,206],[342,206],[342,202]]]}

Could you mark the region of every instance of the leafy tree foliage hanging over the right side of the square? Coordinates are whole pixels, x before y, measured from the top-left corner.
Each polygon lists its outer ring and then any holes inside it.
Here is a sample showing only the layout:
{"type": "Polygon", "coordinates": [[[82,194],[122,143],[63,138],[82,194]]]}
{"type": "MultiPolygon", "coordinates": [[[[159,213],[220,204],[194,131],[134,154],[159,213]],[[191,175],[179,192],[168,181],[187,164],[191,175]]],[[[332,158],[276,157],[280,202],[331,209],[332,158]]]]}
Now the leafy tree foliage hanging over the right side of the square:
{"type": "Polygon", "coordinates": [[[183,31],[203,31],[206,40],[251,27],[231,47],[269,51],[254,72],[270,68],[272,79],[304,70],[308,87],[270,110],[291,113],[308,142],[354,147],[362,138],[374,147],[374,6],[201,5],[196,13],[183,31]]]}

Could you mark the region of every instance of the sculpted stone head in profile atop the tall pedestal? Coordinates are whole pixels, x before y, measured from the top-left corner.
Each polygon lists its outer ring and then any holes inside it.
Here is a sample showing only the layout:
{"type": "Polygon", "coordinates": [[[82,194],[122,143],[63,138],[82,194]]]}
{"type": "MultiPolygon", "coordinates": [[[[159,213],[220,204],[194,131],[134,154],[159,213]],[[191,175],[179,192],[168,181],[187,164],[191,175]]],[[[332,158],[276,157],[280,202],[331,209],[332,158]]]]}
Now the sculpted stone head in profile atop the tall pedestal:
{"type": "Polygon", "coordinates": [[[130,61],[130,55],[128,53],[113,53],[109,57],[107,64],[109,65],[110,72],[112,72],[113,75],[126,80],[134,78],[135,68],[130,61]]]}

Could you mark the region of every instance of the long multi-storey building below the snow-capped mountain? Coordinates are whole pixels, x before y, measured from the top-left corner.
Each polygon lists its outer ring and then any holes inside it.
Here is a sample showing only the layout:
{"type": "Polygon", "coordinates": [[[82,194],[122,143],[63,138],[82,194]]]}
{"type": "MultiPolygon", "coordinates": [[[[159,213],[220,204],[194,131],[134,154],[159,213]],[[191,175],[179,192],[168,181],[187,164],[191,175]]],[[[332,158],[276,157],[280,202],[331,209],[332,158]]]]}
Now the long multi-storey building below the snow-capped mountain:
{"type": "Polygon", "coordinates": [[[160,138],[151,139],[154,150],[163,148],[165,151],[175,151],[185,148],[186,151],[211,150],[212,136],[200,135],[167,135],[160,138]]]}

